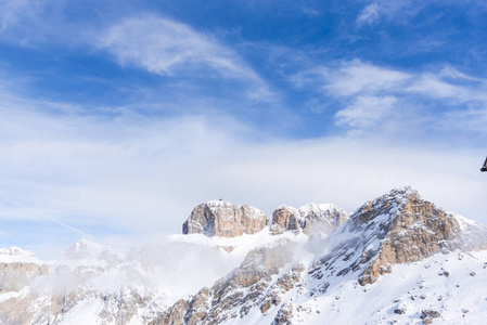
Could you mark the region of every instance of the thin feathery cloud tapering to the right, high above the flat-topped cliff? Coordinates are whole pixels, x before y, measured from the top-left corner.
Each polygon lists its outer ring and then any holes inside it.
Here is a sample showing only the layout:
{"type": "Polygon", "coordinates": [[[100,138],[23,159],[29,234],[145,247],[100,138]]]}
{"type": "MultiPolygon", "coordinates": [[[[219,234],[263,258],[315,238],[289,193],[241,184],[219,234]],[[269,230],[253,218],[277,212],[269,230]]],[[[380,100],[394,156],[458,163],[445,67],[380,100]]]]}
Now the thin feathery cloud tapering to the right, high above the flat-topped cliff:
{"type": "Polygon", "coordinates": [[[223,78],[259,79],[233,50],[210,35],[154,15],[128,18],[112,26],[100,38],[99,47],[116,56],[120,64],[132,64],[155,74],[174,75],[203,67],[223,78]]]}

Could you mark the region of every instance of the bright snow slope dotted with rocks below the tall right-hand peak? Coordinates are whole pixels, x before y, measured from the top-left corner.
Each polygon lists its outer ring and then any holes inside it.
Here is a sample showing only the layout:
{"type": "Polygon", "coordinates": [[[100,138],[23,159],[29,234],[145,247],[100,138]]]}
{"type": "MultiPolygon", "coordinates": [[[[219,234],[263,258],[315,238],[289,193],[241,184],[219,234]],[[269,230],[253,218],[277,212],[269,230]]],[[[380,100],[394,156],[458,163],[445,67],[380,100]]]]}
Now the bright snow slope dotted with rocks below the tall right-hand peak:
{"type": "MultiPolygon", "coordinates": [[[[360,286],[353,278],[336,282],[322,295],[294,288],[282,303],[293,304],[293,324],[423,324],[423,310],[439,312],[433,324],[486,324],[487,251],[436,255],[411,264],[397,264],[376,283],[360,286]],[[445,272],[449,276],[445,276],[445,272]],[[472,275],[475,274],[475,275],[472,275]],[[395,310],[405,309],[403,314],[395,310]]],[[[303,276],[307,282],[308,276],[303,276]]],[[[254,309],[243,320],[223,324],[268,325],[278,313],[254,309]]]]}

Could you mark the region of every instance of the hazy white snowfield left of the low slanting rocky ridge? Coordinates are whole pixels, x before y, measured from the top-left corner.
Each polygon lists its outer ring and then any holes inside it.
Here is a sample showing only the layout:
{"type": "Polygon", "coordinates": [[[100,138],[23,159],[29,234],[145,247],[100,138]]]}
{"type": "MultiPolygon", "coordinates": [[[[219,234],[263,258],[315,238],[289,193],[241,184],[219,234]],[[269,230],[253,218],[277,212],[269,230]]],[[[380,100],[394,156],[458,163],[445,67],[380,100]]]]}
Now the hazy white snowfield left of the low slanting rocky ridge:
{"type": "Polygon", "coordinates": [[[101,320],[101,310],[111,301],[121,299],[118,297],[125,297],[127,301],[132,299],[131,292],[137,292],[152,302],[137,310],[130,324],[145,324],[142,316],[152,314],[155,317],[179,299],[189,298],[202,287],[210,287],[238,268],[252,249],[273,245],[283,238],[303,243],[307,236],[291,233],[271,236],[267,227],[255,235],[233,238],[171,235],[132,248],[126,256],[117,256],[103,245],[82,239],[54,261],[40,261],[18,248],[3,249],[2,258],[8,263],[29,260],[44,264],[51,271],[35,277],[22,296],[13,291],[0,292],[0,302],[24,297],[33,289],[41,295],[41,303],[49,303],[52,295],[74,290],[79,296],[77,303],[57,317],[56,324],[116,324],[116,321],[105,323],[106,320],[101,320]],[[229,248],[231,251],[227,251],[229,248]]]}

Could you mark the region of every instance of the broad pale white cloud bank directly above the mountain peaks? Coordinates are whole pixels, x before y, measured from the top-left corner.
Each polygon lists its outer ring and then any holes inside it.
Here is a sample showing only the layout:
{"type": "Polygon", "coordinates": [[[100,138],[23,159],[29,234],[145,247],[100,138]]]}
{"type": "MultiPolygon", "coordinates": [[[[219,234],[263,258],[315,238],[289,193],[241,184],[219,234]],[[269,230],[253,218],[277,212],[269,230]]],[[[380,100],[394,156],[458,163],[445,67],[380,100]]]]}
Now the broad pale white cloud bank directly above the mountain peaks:
{"type": "MultiPolygon", "coordinates": [[[[343,118],[358,127],[377,123],[387,114],[383,107],[395,103],[360,101],[380,112],[349,107],[343,118]]],[[[0,195],[84,232],[103,225],[108,235],[179,233],[195,205],[220,197],[269,216],[282,203],[331,202],[353,210],[406,184],[479,221],[487,208],[482,154],[474,151],[339,139],[252,142],[256,130],[223,116],[111,119],[1,108],[0,195]],[[18,129],[3,128],[8,123],[18,129]]],[[[2,218],[38,219],[5,202],[0,206],[2,218]]],[[[78,234],[73,236],[75,242],[78,234]]]]}

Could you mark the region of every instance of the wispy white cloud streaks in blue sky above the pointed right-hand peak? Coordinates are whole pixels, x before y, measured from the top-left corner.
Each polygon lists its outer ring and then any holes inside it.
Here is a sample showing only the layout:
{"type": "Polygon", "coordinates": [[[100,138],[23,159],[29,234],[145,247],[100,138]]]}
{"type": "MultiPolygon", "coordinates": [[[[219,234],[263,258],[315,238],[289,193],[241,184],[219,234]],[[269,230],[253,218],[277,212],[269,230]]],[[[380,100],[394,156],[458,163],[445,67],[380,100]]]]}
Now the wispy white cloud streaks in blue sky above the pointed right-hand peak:
{"type": "Polygon", "coordinates": [[[338,101],[342,107],[336,107],[335,122],[350,134],[402,131],[406,121],[416,125],[420,132],[487,132],[475,127],[487,113],[487,80],[451,66],[436,72],[403,72],[356,60],[302,72],[292,81],[299,88],[312,84],[323,100],[338,101]]]}

